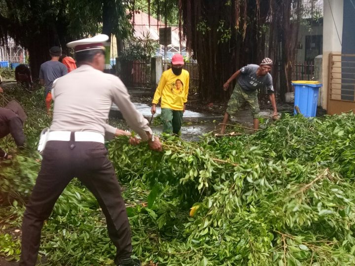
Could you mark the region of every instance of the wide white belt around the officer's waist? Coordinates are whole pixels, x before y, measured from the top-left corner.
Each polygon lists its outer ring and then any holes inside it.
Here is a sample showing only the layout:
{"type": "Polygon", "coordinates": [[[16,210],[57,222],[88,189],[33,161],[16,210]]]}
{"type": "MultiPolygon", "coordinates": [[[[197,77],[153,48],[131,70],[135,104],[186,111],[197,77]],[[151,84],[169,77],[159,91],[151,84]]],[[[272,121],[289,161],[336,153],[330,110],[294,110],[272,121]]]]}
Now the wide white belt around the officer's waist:
{"type": "MultiPolygon", "coordinates": [[[[47,136],[47,141],[70,141],[70,131],[50,131],[47,136]]],[[[105,143],[105,137],[97,132],[77,131],[74,132],[74,141],[93,141],[105,143]]]]}

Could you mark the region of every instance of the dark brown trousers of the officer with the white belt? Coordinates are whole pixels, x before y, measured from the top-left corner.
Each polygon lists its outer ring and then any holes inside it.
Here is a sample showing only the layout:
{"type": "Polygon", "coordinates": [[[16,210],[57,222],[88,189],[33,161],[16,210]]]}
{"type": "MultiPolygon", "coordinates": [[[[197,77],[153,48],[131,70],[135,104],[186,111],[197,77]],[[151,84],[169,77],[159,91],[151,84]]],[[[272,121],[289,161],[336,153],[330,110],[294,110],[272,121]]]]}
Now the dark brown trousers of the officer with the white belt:
{"type": "Polygon", "coordinates": [[[126,207],[104,144],[48,141],[36,185],[24,214],[20,266],[35,266],[43,222],[48,219],[58,197],[74,177],[99,201],[106,216],[109,237],[117,247],[115,262],[119,264],[121,259],[131,257],[131,231],[126,207]]]}

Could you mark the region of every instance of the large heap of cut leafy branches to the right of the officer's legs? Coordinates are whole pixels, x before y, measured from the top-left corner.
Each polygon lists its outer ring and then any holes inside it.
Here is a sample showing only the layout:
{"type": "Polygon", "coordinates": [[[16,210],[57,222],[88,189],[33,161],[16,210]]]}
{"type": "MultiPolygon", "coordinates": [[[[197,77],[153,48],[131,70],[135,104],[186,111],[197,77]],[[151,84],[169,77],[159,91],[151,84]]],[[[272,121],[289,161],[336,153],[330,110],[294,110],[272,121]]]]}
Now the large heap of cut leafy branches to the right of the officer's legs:
{"type": "Polygon", "coordinates": [[[343,114],[285,115],[199,144],[171,137],[163,154],[113,141],[120,180],[164,191],[128,212],[136,254],[163,265],[353,265],[354,137],[355,116],[343,114]]]}

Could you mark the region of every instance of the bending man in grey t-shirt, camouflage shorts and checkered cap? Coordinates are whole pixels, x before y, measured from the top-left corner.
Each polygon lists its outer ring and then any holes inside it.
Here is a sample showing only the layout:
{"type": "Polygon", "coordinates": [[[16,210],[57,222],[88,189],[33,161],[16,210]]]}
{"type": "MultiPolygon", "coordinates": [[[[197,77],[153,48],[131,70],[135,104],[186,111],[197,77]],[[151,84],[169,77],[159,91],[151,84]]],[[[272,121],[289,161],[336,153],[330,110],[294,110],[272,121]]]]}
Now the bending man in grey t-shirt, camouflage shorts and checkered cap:
{"type": "MultiPolygon", "coordinates": [[[[273,87],[272,76],[270,70],[272,67],[272,60],[264,58],[260,66],[248,65],[243,66],[236,71],[223,85],[223,89],[227,90],[231,81],[238,78],[237,84],[234,88],[232,96],[228,101],[228,107],[223,117],[222,124],[226,124],[229,116],[236,114],[244,103],[249,105],[253,117],[254,129],[259,128],[259,101],[257,98],[258,89],[266,87],[269,94],[270,102],[273,106],[273,117],[277,116],[275,91],[273,87]]],[[[220,133],[223,134],[225,125],[222,125],[220,133]]]]}

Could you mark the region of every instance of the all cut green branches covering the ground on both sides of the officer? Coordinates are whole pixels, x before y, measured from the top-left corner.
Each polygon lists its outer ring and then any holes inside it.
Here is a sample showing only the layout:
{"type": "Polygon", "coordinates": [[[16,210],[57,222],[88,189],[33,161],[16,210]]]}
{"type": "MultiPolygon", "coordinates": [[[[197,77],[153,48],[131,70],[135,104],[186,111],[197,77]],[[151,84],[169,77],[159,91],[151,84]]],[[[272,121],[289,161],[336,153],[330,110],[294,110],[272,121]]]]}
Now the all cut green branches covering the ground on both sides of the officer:
{"type": "MultiPolygon", "coordinates": [[[[49,123],[39,92],[12,94],[31,114],[32,141],[1,164],[7,230],[21,224],[40,167],[33,150],[49,123]]],[[[159,265],[354,265],[354,138],[355,116],[343,114],[284,115],[252,135],[198,143],[163,135],[161,153],[125,137],[108,142],[134,254],[159,265]]],[[[7,230],[0,252],[17,259],[19,241],[7,230]]],[[[114,253],[96,199],[74,179],[45,223],[40,254],[52,265],[89,266],[112,265],[114,253]]]]}

